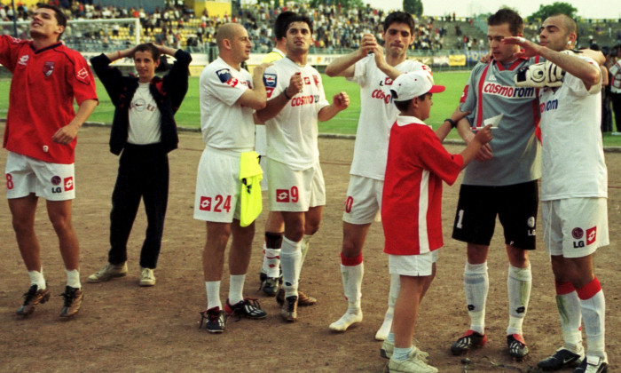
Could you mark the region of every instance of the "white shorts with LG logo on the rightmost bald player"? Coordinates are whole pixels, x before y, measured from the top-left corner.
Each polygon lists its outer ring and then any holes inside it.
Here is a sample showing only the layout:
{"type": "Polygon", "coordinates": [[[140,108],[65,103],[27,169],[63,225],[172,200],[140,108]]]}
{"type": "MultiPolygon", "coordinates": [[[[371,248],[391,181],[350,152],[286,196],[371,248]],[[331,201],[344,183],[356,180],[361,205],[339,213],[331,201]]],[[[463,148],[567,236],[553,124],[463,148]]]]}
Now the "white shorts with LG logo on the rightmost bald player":
{"type": "Polygon", "coordinates": [[[567,198],[541,202],[546,252],[582,258],[609,244],[606,198],[567,198]]]}

